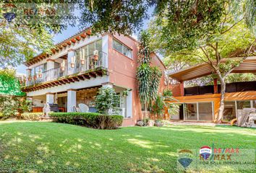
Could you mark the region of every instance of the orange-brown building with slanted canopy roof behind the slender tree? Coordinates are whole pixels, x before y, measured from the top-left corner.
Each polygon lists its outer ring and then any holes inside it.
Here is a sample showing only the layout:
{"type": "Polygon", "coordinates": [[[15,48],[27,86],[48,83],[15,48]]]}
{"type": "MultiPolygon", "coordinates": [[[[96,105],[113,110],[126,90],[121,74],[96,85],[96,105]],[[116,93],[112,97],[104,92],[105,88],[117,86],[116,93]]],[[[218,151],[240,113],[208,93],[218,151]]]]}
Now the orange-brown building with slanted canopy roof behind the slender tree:
{"type": "MultiPolygon", "coordinates": [[[[223,60],[222,63],[225,63],[223,60]]],[[[248,57],[243,63],[234,68],[231,73],[256,73],[256,56],[248,57]]],[[[191,66],[176,71],[169,76],[179,84],[172,85],[174,97],[179,104],[179,112],[171,115],[171,120],[213,122],[218,116],[221,99],[221,86],[217,79],[213,85],[184,87],[184,81],[197,79],[213,74],[208,63],[191,66]]],[[[223,122],[236,118],[237,110],[256,108],[256,81],[243,81],[226,84],[225,108],[223,122]]]]}

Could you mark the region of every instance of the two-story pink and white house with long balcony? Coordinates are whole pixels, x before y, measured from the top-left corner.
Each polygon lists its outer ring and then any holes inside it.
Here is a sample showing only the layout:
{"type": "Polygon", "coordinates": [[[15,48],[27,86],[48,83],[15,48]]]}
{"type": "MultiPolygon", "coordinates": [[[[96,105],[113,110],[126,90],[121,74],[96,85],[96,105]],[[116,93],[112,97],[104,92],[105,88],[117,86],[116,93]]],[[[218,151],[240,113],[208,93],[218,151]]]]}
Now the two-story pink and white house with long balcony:
{"type": "MultiPolygon", "coordinates": [[[[120,95],[123,125],[135,125],[142,118],[137,92],[137,40],[124,35],[91,35],[90,28],[55,45],[51,54],[40,54],[25,62],[27,81],[23,89],[32,99],[33,111],[42,112],[46,103],[57,103],[59,110],[72,112],[84,103],[95,111],[94,97],[101,86],[113,87],[120,95]]],[[[152,63],[162,71],[162,61],[151,53],[152,63]]],[[[163,73],[164,75],[164,73],[163,73]]],[[[159,92],[163,91],[164,76],[159,92]]]]}

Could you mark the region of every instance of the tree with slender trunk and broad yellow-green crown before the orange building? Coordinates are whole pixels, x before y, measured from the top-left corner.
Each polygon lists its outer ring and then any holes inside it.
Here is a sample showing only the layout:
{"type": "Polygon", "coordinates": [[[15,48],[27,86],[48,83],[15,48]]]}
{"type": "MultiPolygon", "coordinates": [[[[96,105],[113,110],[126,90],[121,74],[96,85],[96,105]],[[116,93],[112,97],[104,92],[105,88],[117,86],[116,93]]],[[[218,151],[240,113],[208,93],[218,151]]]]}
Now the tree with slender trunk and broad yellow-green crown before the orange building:
{"type": "Polygon", "coordinates": [[[168,56],[182,56],[184,62],[197,61],[210,65],[221,83],[221,104],[216,120],[220,122],[223,117],[226,79],[236,66],[254,54],[255,35],[246,26],[244,13],[234,15],[233,10],[237,6],[231,1],[213,2],[187,4],[174,1],[165,6],[165,14],[155,18],[155,25],[150,32],[158,35],[160,42],[156,40],[154,44],[161,47],[168,56]],[[234,58],[236,56],[240,58],[234,58]]]}

